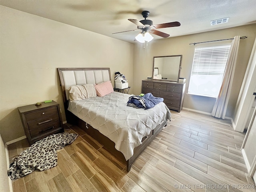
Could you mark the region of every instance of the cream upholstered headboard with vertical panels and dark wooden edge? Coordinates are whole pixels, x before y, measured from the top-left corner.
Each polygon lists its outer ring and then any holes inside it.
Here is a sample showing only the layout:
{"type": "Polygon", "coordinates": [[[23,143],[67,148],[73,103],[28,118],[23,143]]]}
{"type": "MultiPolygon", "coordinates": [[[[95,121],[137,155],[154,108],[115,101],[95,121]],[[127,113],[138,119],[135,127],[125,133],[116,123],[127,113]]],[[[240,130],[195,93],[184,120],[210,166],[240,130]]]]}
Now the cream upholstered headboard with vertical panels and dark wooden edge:
{"type": "Polygon", "coordinates": [[[68,88],[73,85],[111,81],[110,68],[58,68],[64,103],[69,100],[68,88]]]}

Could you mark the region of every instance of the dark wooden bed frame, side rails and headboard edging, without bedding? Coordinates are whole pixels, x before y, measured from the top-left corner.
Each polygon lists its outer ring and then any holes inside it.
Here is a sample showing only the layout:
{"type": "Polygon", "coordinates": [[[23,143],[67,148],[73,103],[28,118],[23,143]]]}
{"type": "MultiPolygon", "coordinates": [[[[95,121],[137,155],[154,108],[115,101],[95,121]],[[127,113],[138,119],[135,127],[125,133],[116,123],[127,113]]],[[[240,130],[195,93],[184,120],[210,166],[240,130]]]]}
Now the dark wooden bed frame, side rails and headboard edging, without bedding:
{"type": "MultiPolygon", "coordinates": [[[[108,70],[109,74],[109,80],[111,81],[111,74],[110,74],[110,68],[58,68],[58,73],[60,76],[60,83],[62,86],[62,96],[64,101],[64,108],[66,113],[66,120],[70,124],[74,124],[79,126],[82,130],[84,130],[88,135],[92,136],[92,138],[96,139],[100,144],[103,145],[103,148],[106,149],[110,154],[112,154],[114,157],[116,157],[121,162],[126,163],[126,170],[127,172],[130,171],[130,168],[132,166],[132,163],[136,160],[136,158],[140,155],[140,153],[148,146],[148,144],[155,138],[155,136],[164,128],[167,124],[167,121],[163,121],[160,125],[156,126],[148,136],[145,136],[142,138],[142,144],[140,146],[137,146],[134,148],[134,154],[133,156],[126,161],[124,158],[124,155],[122,152],[116,150],[115,143],[112,142],[109,138],[101,134],[98,130],[94,129],[92,126],[72,114],[72,112],[68,111],[68,99],[66,95],[66,88],[65,88],[65,82],[64,77],[62,75],[63,71],[87,71],[87,70],[108,70]],[[88,128],[87,128],[88,127],[88,128]]],[[[96,82],[99,83],[99,82],[96,82]]],[[[78,83],[79,84],[79,83],[78,83]]]]}

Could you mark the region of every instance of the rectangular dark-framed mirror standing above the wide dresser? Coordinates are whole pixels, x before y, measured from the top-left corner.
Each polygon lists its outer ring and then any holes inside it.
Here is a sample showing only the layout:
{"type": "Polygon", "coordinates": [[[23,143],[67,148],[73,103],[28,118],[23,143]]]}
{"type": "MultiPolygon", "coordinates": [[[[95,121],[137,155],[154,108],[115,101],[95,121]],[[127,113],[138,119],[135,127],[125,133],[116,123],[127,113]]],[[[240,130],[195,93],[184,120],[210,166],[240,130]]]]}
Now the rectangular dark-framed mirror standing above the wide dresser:
{"type": "Polygon", "coordinates": [[[182,55],[158,56],[153,60],[153,80],[178,82],[180,78],[182,55]]]}

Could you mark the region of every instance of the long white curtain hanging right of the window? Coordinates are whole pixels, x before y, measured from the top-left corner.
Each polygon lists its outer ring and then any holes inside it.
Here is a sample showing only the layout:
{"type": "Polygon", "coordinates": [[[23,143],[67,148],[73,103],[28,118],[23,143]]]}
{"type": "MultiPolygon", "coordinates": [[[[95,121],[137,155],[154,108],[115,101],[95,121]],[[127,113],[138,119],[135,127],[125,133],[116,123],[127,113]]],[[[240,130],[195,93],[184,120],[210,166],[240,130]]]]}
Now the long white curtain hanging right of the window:
{"type": "Polygon", "coordinates": [[[230,54],[228,56],[226,70],[223,76],[220,93],[216,99],[216,103],[212,109],[212,116],[225,119],[228,100],[230,98],[230,92],[232,87],[232,81],[234,78],[234,72],[236,68],[236,58],[238,54],[240,36],[235,36],[232,40],[230,47],[230,54]]]}

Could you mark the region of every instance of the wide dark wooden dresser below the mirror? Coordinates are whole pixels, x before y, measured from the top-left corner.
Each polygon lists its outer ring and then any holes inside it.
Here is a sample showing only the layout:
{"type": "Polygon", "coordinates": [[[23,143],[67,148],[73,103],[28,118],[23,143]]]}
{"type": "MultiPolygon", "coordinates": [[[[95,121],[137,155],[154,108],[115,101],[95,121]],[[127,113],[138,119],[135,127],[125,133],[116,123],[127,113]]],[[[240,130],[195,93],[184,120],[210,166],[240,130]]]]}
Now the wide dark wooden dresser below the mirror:
{"type": "Polygon", "coordinates": [[[178,112],[182,110],[185,88],[186,83],[142,80],[142,93],[152,93],[155,97],[164,98],[166,106],[178,112]]]}

